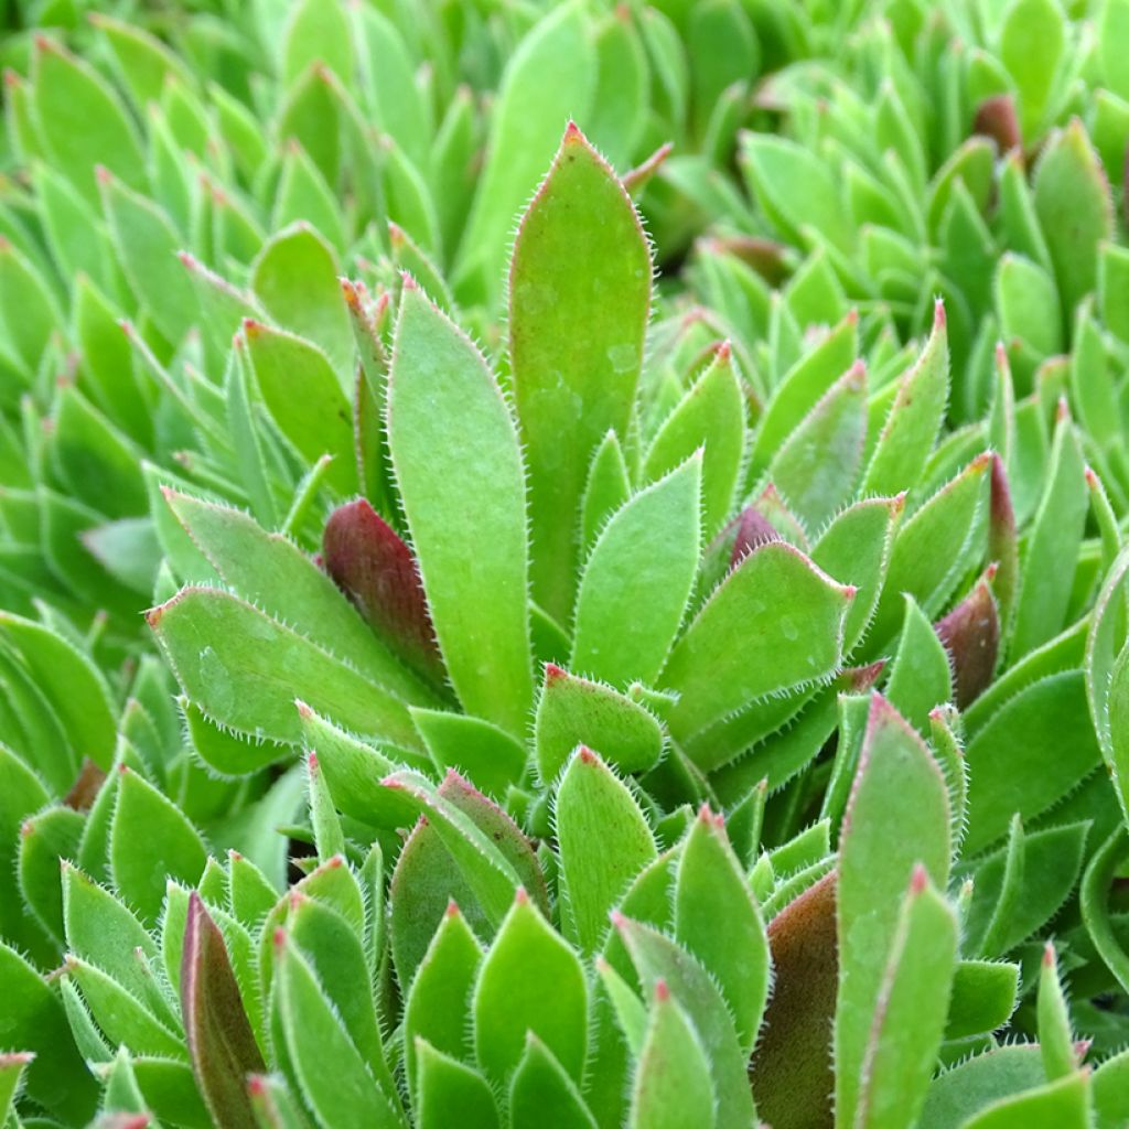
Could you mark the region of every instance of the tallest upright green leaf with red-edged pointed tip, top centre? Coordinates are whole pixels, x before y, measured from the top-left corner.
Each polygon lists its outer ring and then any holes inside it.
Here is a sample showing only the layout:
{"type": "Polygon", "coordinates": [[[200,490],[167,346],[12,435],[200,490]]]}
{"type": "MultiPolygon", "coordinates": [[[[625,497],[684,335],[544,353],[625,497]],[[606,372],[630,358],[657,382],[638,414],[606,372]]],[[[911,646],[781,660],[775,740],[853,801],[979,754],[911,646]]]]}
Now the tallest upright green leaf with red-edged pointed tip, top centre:
{"type": "MultiPolygon", "coordinates": [[[[543,27],[553,23],[554,38],[566,28],[575,34],[578,14],[562,6],[543,27]]],[[[550,35],[534,32],[541,34],[550,35]]],[[[545,81],[540,75],[537,85],[545,81]]],[[[507,152],[508,166],[518,152],[507,152]]],[[[484,180],[480,201],[487,189],[484,180]]],[[[581,559],[577,520],[588,466],[607,430],[627,435],[631,422],[650,271],[627,192],[569,125],[522,220],[509,277],[510,368],[530,470],[533,594],[561,621],[572,610],[581,559]]]]}

